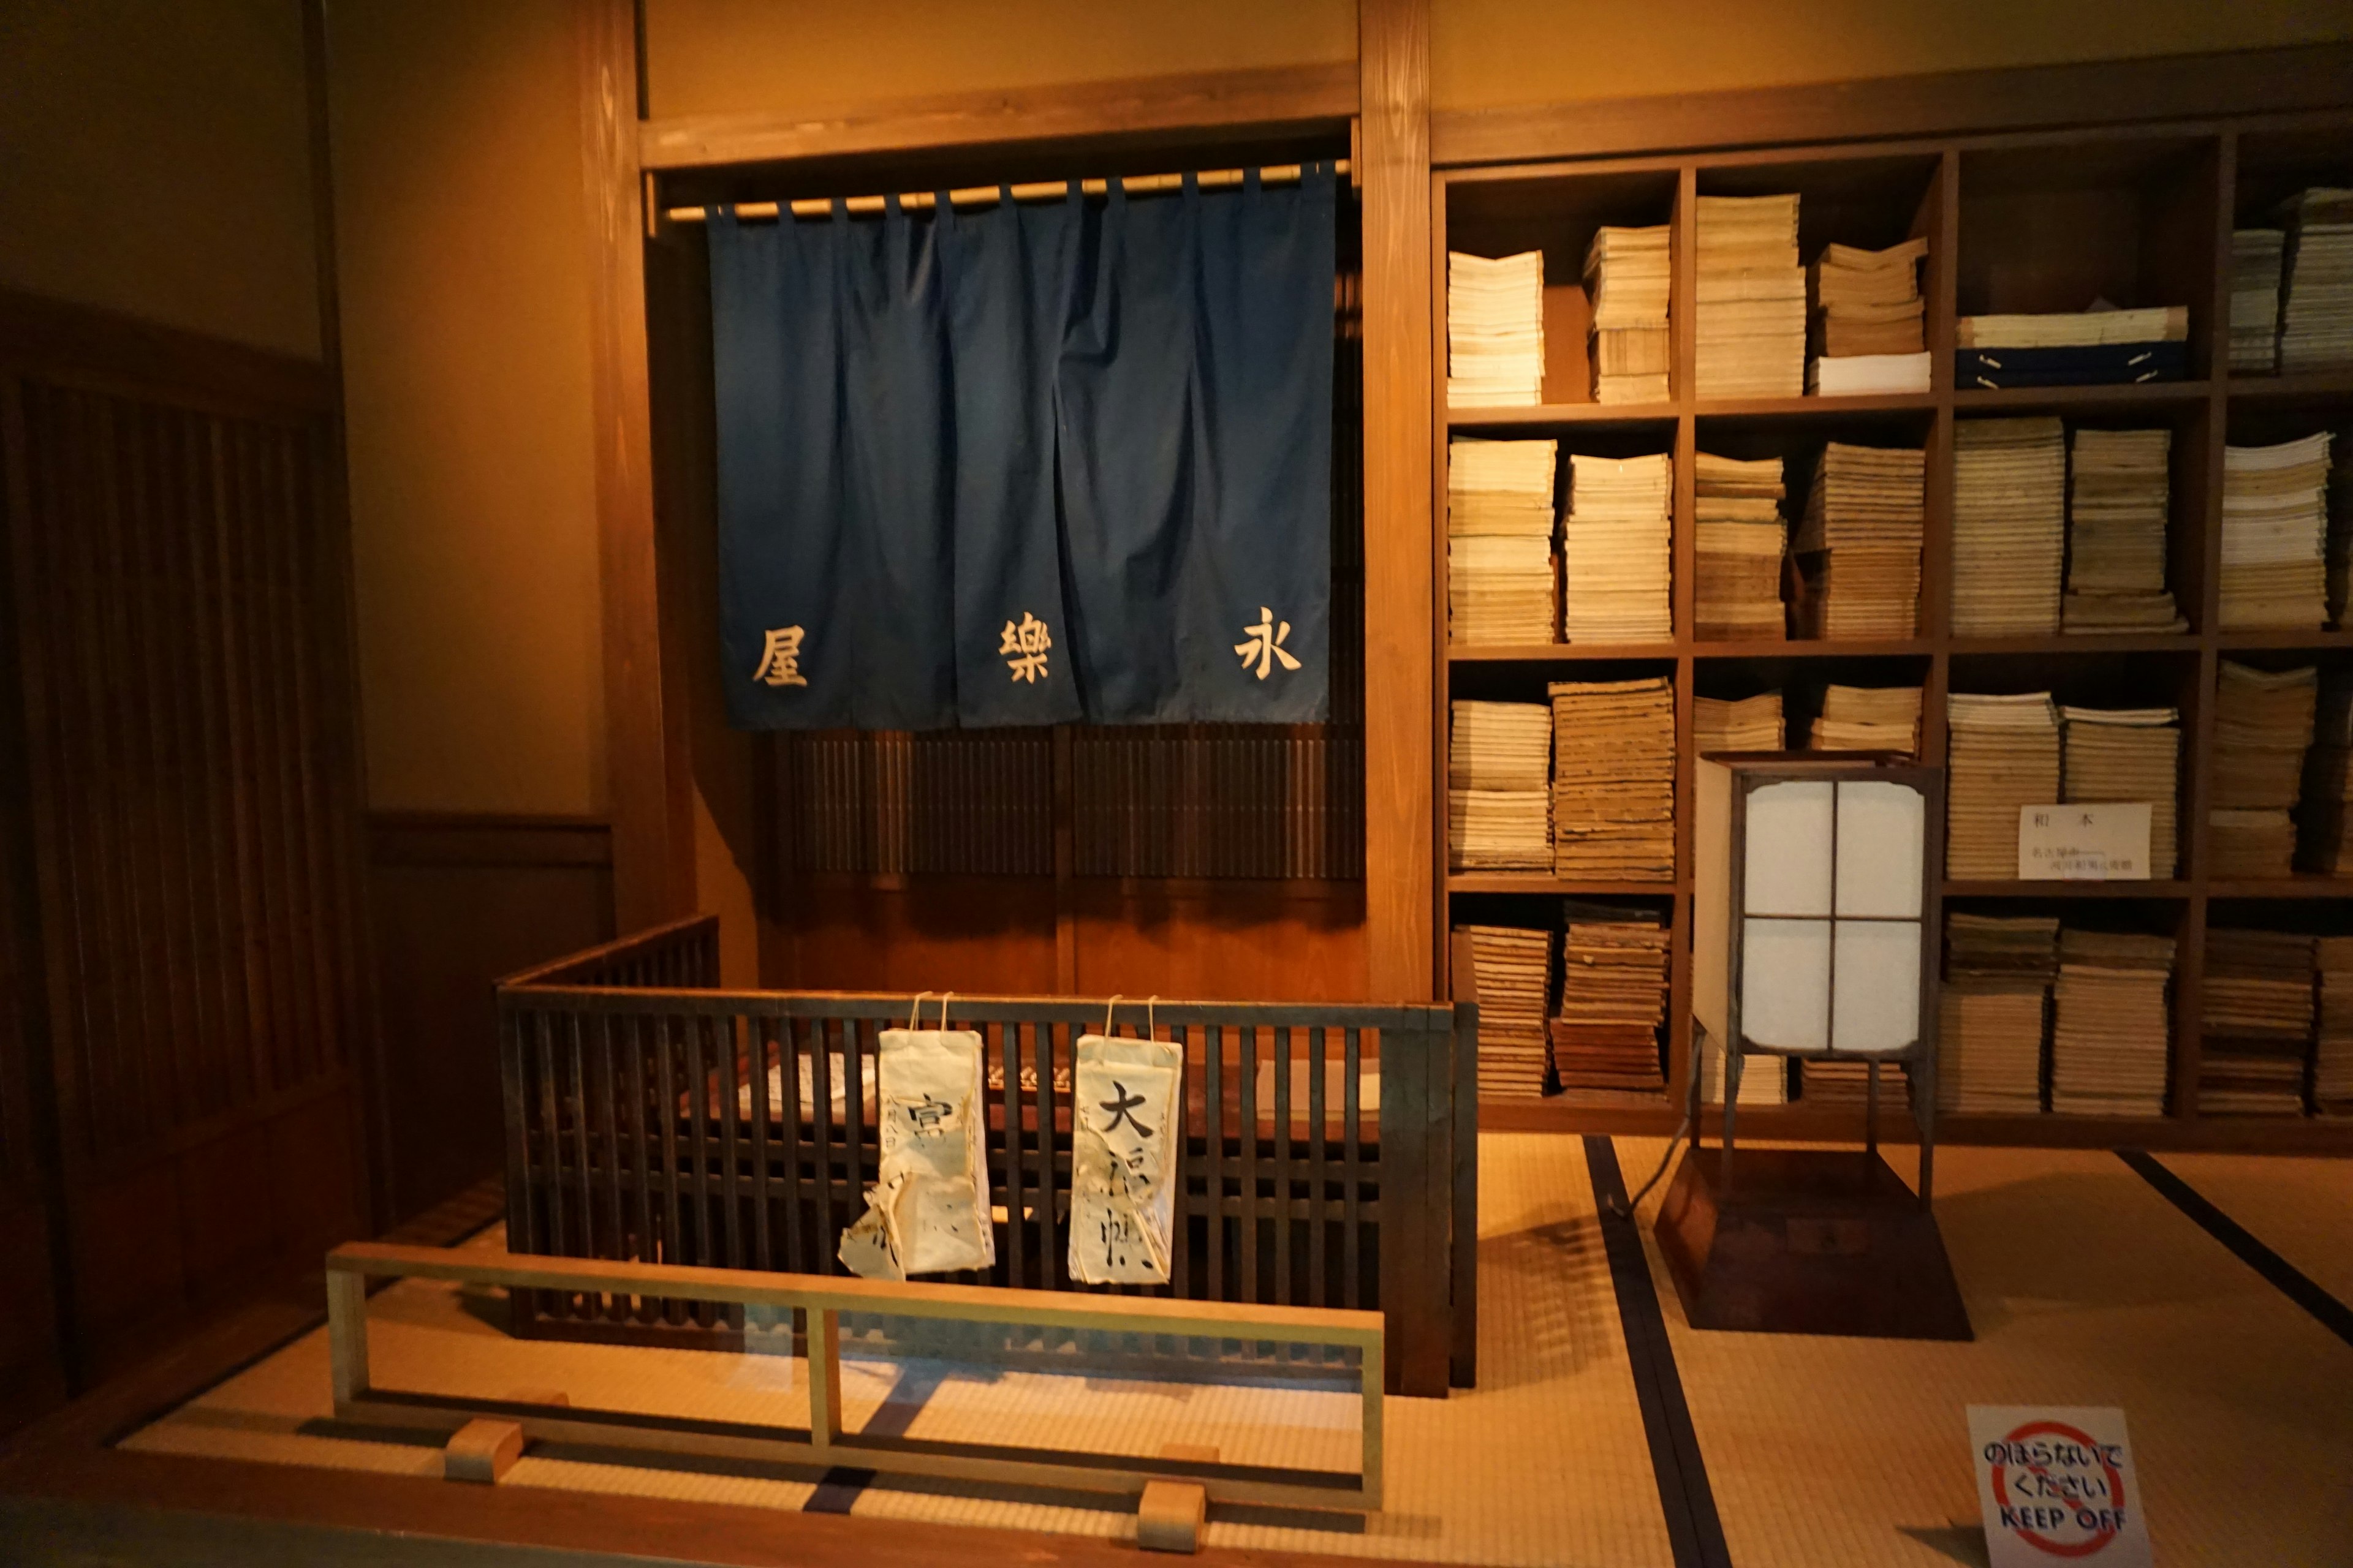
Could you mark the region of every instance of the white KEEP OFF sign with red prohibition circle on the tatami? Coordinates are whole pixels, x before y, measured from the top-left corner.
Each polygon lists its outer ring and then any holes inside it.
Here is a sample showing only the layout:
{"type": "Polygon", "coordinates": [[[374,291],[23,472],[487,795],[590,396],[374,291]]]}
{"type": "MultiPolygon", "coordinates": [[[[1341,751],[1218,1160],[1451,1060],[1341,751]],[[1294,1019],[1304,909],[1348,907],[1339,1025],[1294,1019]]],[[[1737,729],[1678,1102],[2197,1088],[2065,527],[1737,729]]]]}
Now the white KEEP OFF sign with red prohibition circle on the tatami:
{"type": "Polygon", "coordinates": [[[2122,1410],[1969,1406],[1969,1450],[1993,1568],[2151,1568],[2122,1410]]]}

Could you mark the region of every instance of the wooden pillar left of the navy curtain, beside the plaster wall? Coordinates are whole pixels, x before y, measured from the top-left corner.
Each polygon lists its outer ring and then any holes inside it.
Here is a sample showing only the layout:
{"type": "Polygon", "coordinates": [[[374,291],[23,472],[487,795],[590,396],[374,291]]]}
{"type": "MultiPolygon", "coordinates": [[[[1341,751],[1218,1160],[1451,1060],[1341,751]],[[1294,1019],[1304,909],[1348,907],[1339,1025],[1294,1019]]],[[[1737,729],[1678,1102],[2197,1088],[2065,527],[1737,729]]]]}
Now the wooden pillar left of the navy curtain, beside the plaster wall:
{"type": "Polygon", "coordinates": [[[638,179],[638,19],[574,0],[588,197],[588,374],[605,611],[605,769],[621,931],[694,907],[694,785],[685,715],[664,703],[654,550],[654,416],[638,179]]]}

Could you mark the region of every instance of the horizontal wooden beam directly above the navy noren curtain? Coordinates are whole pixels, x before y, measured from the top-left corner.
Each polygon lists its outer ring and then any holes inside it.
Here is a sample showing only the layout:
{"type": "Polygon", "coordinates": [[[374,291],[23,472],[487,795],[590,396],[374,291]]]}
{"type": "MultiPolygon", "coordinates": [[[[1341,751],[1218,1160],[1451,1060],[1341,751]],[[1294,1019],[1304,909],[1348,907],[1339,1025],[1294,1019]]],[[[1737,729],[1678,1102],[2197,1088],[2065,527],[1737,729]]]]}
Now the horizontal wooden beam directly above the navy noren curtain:
{"type": "Polygon", "coordinates": [[[638,162],[647,169],[696,169],[1134,132],[1339,127],[1355,113],[1355,66],[1334,61],[958,92],[847,110],[680,115],[638,127],[638,162]]]}

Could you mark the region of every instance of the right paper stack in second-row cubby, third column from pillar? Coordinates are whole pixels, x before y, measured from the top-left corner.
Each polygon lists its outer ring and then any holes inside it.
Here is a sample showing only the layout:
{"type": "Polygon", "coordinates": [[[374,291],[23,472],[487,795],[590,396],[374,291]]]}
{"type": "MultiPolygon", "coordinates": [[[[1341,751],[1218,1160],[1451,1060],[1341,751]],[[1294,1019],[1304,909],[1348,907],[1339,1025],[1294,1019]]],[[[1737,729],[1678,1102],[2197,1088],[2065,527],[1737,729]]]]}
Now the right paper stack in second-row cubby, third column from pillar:
{"type": "Polygon", "coordinates": [[[2188,630],[2165,590],[2165,456],[2172,442],[2172,430],[2075,433],[2066,508],[2066,630],[2188,630]]]}

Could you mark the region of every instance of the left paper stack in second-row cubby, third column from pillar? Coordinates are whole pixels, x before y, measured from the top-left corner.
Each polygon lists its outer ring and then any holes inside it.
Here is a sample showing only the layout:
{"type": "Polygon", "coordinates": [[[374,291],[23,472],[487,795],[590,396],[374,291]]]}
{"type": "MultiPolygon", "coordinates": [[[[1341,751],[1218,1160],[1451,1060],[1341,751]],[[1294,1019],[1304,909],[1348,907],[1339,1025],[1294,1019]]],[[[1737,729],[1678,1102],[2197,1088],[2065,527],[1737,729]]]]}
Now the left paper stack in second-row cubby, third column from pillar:
{"type": "Polygon", "coordinates": [[[1953,632],[2059,630],[2066,430],[2057,418],[1953,428],[1953,632]]]}

